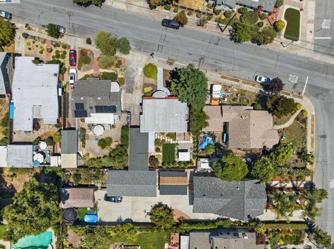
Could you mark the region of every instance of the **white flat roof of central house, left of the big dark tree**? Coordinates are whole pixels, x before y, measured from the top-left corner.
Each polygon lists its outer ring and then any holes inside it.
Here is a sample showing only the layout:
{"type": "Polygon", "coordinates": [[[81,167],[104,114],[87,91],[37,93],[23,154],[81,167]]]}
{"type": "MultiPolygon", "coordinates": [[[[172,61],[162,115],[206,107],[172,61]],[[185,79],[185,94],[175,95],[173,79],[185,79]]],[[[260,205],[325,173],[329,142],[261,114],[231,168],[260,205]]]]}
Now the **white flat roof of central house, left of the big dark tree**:
{"type": "Polygon", "coordinates": [[[176,97],[144,97],[141,132],[187,132],[188,107],[176,97]]]}

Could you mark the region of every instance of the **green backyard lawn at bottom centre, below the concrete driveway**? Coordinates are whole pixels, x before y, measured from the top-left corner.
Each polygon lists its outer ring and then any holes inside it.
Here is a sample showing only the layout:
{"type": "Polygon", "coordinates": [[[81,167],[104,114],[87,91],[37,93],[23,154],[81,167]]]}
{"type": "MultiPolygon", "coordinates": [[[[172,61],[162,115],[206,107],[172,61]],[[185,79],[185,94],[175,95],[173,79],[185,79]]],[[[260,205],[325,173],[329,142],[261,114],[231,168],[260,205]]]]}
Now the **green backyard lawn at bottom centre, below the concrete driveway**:
{"type": "Polygon", "coordinates": [[[111,237],[111,243],[128,243],[130,245],[139,245],[141,249],[164,249],[167,240],[165,232],[143,232],[138,234],[135,241],[122,237],[111,237]]]}

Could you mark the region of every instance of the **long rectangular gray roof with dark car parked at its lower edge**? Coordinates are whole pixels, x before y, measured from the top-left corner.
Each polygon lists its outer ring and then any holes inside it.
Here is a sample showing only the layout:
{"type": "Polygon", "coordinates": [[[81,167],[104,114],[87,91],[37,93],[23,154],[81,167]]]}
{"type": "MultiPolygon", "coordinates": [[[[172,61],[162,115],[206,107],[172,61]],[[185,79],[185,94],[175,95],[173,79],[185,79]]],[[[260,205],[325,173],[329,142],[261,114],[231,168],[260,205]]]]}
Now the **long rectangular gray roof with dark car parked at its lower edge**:
{"type": "Polygon", "coordinates": [[[156,171],[109,170],[106,180],[108,196],[157,196],[156,171]]]}

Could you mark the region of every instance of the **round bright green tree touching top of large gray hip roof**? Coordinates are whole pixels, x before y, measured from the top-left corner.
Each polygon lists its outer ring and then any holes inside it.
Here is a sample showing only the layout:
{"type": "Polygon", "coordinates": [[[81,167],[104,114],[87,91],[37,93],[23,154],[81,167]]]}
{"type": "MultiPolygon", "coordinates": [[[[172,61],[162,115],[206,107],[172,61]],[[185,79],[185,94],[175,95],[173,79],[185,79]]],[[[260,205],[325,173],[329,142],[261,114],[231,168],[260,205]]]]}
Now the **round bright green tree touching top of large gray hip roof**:
{"type": "Polygon", "coordinates": [[[228,182],[242,180],[248,173],[246,162],[232,153],[224,155],[220,162],[214,162],[212,169],[218,178],[228,182]]]}

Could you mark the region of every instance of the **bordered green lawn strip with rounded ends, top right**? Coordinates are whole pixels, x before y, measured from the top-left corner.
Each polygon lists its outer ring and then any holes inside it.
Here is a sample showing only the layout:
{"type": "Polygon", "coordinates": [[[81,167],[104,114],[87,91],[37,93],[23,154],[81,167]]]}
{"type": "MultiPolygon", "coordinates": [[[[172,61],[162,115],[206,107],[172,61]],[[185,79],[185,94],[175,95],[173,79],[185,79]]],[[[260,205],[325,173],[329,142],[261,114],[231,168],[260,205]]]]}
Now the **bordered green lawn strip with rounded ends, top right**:
{"type": "Polygon", "coordinates": [[[294,8],[287,8],[287,10],[285,10],[284,19],[287,21],[284,37],[289,40],[298,41],[301,12],[294,8]]]}

